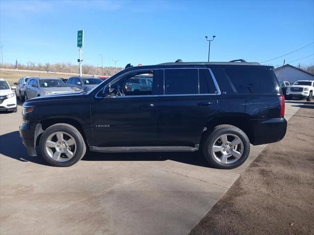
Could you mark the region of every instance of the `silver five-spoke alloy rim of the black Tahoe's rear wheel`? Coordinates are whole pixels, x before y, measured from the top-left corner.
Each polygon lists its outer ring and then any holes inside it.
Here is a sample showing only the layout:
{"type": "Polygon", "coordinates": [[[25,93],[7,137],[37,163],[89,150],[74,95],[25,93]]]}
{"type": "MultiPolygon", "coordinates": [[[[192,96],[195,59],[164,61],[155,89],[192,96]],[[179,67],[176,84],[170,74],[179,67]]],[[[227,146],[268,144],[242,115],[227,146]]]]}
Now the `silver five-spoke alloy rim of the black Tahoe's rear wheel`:
{"type": "Polygon", "coordinates": [[[217,161],[231,164],[242,156],[243,142],[235,134],[223,134],[214,141],[211,152],[217,161]]]}

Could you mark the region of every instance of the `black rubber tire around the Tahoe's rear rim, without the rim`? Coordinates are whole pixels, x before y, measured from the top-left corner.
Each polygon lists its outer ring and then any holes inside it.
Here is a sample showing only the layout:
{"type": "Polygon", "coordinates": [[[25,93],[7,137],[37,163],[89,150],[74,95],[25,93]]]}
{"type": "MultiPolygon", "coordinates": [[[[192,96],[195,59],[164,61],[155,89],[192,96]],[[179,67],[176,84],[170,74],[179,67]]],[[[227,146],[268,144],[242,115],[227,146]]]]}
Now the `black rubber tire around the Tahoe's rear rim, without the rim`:
{"type": "Polygon", "coordinates": [[[231,125],[219,125],[216,126],[212,132],[207,132],[202,140],[202,151],[205,158],[209,163],[219,169],[233,169],[242,165],[250,154],[250,140],[241,129],[231,125]],[[218,161],[212,154],[211,148],[214,141],[223,134],[233,134],[238,136],[243,143],[243,153],[234,163],[222,163],[218,161]]]}

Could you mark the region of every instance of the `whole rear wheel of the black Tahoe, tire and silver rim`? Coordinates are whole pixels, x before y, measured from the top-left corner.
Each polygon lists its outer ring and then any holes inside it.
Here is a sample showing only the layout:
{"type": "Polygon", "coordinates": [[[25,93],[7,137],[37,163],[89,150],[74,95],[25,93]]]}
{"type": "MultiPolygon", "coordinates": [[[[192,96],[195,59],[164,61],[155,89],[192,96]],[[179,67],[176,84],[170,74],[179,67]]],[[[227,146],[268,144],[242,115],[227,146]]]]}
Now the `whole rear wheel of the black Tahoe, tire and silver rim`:
{"type": "Polygon", "coordinates": [[[204,136],[203,154],[220,169],[233,169],[249,157],[250,141],[244,131],[231,125],[220,125],[204,136]]]}

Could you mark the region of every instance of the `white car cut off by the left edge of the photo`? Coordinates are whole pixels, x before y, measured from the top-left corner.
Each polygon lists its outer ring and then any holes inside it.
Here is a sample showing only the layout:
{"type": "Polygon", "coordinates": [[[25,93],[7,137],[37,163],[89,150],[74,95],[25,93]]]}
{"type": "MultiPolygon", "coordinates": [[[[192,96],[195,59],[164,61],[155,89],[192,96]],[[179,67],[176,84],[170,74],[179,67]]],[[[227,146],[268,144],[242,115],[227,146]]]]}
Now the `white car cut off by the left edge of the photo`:
{"type": "Polygon", "coordinates": [[[15,86],[10,87],[9,83],[4,79],[0,78],[0,111],[13,111],[18,110],[16,103],[15,86]]]}

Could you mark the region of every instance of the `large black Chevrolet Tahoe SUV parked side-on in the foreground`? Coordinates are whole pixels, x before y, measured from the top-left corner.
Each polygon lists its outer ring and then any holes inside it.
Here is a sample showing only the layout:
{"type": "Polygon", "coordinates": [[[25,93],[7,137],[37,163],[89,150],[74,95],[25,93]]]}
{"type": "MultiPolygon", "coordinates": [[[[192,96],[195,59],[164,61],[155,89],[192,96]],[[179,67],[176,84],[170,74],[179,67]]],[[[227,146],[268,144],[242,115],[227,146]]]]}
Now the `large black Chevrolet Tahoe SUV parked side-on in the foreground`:
{"type": "Polygon", "coordinates": [[[70,166],[92,152],[193,152],[231,169],[250,143],[281,140],[285,98],[273,67],[247,62],[164,63],[127,68],[90,91],[28,100],[20,134],[30,156],[70,166]],[[127,91],[134,77],[150,89],[127,91]]]}

